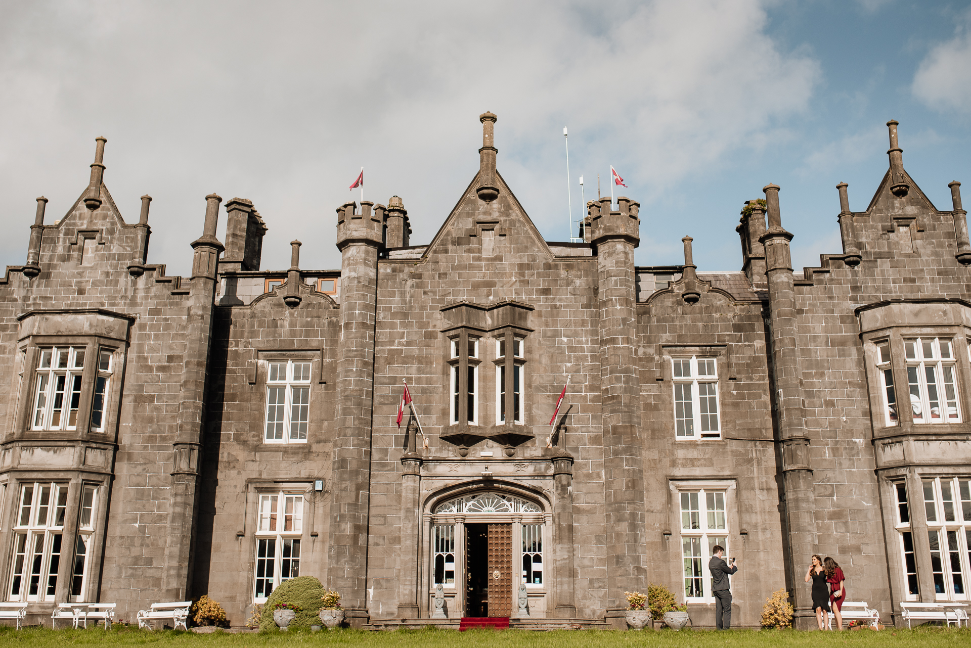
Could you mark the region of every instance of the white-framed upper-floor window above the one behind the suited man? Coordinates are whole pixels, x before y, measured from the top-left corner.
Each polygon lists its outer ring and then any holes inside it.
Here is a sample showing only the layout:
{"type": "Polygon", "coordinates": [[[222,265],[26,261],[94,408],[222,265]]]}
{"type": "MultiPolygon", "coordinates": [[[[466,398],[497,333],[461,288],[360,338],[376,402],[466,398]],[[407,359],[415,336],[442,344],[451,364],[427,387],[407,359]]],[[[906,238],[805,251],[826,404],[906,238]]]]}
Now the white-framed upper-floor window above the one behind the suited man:
{"type": "Polygon", "coordinates": [[[671,358],[675,438],[721,438],[716,358],[671,358]]]}

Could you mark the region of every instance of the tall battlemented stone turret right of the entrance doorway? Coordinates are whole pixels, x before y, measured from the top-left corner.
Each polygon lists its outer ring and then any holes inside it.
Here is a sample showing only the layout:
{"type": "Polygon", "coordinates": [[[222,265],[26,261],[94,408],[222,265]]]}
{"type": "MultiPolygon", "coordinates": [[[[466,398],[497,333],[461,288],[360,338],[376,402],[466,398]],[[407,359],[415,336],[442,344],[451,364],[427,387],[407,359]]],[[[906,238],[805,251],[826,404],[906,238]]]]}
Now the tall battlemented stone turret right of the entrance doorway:
{"type": "Polygon", "coordinates": [[[644,443],[637,358],[634,248],[640,243],[640,204],[623,196],[611,211],[605,196],[589,204],[597,255],[600,319],[600,398],[606,497],[607,616],[623,627],[624,592],[647,587],[644,443]]]}

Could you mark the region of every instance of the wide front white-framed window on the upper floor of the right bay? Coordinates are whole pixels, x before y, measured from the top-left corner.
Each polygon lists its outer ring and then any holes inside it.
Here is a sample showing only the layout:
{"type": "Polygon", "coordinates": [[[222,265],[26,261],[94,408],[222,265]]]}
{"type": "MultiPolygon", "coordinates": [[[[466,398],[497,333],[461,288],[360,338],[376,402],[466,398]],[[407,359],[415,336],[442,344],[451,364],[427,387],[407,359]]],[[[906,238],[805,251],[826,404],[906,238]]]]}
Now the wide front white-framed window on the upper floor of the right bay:
{"type": "Polygon", "coordinates": [[[915,423],[960,423],[957,370],[951,340],[904,339],[907,382],[915,423]]]}

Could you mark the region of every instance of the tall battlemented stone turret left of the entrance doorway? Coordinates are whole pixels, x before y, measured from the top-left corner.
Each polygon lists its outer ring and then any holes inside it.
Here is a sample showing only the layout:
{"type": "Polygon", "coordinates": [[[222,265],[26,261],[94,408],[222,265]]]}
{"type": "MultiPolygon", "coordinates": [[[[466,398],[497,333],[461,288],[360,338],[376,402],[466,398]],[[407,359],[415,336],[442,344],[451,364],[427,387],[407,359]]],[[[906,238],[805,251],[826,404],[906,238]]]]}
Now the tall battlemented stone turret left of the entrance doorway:
{"type": "Polygon", "coordinates": [[[371,480],[374,346],[377,322],[378,251],[384,222],[373,203],[337,210],[341,250],[341,332],[337,360],[337,435],[327,578],[342,595],[348,622],[368,620],[367,534],[371,480]]]}

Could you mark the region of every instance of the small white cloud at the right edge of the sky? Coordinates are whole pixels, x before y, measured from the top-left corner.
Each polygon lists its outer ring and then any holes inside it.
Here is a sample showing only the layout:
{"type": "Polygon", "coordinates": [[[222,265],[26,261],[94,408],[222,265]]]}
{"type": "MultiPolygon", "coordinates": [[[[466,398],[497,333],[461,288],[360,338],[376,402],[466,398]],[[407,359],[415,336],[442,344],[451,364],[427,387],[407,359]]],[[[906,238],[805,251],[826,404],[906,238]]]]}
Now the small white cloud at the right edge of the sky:
{"type": "Polygon", "coordinates": [[[928,108],[971,113],[971,31],[966,14],[950,41],[927,52],[914,75],[911,91],[928,108]]]}

